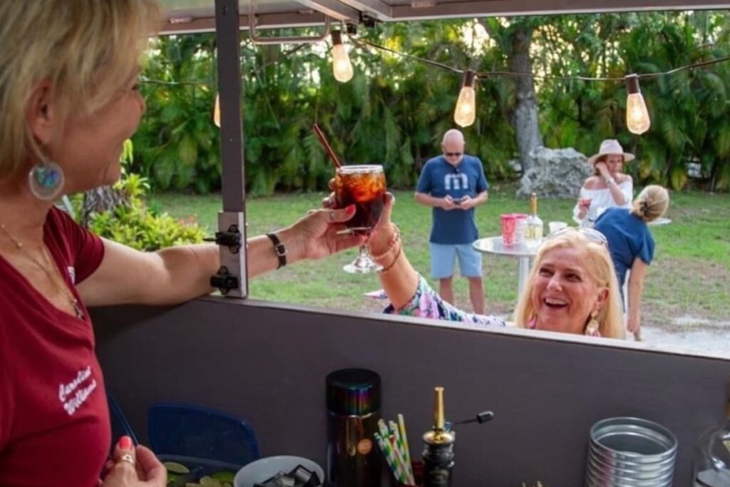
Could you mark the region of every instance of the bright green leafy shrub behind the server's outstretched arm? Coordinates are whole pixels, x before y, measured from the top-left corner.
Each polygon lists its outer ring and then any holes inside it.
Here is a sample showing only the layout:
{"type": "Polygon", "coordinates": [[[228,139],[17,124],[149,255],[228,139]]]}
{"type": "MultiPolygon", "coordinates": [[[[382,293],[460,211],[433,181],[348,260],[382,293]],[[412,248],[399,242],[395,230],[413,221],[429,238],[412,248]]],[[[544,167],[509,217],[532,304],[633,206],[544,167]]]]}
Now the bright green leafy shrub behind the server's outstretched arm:
{"type": "Polygon", "coordinates": [[[114,186],[125,202],[110,211],[92,213],[88,228],[101,237],[138,250],[158,250],[172,245],[202,242],[204,229],[192,221],[177,221],[167,213],[151,210],[145,204],[150,189],[145,177],[128,172],[132,143],[125,142],[122,177],[114,186]]]}

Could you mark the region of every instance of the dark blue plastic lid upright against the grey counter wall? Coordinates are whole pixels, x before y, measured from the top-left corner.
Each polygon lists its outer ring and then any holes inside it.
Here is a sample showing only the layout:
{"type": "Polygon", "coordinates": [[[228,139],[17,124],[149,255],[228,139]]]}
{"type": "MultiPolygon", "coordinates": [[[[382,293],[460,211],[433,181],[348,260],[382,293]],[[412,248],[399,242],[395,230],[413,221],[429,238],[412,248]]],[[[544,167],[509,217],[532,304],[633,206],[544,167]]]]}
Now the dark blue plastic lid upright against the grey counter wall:
{"type": "Polygon", "coordinates": [[[228,413],[191,404],[153,404],[147,415],[158,456],[207,459],[243,467],[260,457],[251,426],[228,413]]]}

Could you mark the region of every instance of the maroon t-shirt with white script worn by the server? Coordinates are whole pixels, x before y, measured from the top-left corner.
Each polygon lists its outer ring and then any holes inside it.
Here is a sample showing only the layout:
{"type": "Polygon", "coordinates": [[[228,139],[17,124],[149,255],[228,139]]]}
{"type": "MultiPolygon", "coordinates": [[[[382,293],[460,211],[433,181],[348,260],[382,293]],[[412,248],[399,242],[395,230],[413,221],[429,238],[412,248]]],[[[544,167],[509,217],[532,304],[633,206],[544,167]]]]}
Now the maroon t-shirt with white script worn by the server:
{"type": "MultiPolygon", "coordinates": [[[[103,242],[56,209],[44,233],[77,295],[74,283],[99,267],[103,242]]],[[[84,315],[56,309],[0,256],[0,486],[98,485],[110,420],[84,315]]]]}

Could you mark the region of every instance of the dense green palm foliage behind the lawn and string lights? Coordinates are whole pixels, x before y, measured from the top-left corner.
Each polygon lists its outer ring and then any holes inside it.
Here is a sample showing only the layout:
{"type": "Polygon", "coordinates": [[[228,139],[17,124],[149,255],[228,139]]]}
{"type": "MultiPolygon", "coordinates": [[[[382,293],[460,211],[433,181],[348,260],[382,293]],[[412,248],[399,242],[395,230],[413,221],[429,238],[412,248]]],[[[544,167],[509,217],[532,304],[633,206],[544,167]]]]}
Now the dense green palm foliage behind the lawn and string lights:
{"type": "MultiPolygon", "coordinates": [[[[331,165],[312,123],[319,123],[348,164],[382,163],[393,187],[411,187],[439,137],[453,126],[461,75],[353,40],[435,61],[456,70],[505,71],[510,36],[529,27],[531,63],[546,77],[621,78],[666,72],[729,55],[726,12],[642,12],[520,19],[449,20],[378,25],[350,37],[355,77],[331,74],[328,46],[255,46],[242,41],[247,190],[326,188],[331,165]]],[[[205,193],[220,188],[212,34],[161,37],[144,72],[147,116],[135,136],[134,171],[155,189],[205,193]],[[164,84],[194,82],[188,84],[164,84]]],[[[593,153],[607,137],[638,155],[629,170],[642,183],[683,188],[687,163],[699,164],[713,189],[730,186],[730,66],[715,64],[642,80],[653,125],[626,130],[621,81],[536,78],[539,125],[548,147],[593,153]]],[[[515,78],[480,77],[477,121],[467,150],[491,179],[514,176],[515,78]]]]}

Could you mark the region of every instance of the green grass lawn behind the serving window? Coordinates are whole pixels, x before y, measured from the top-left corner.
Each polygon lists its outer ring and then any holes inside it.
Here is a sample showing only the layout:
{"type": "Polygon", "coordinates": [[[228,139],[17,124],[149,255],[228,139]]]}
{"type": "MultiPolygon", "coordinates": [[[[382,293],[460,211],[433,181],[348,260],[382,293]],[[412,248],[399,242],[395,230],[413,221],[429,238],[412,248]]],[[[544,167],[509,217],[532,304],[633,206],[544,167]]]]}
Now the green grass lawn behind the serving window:
{"type": "MultiPolygon", "coordinates": [[[[424,275],[429,273],[431,210],[415,203],[412,191],[396,191],[393,221],[403,234],[408,258],[424,275]]],[[[515,185],[493,185],[489,202],[477,208],[481,237],[499,234],[499,215],[527,212],[526,200],[515,199],[515,185]]],[[[248,234],[279,229],[320,205],[324,193],[287,194],[246,203],[248,234]]],[[[545,221],[571,221],[573,200],[542,199],[539,215],[545,221]]],[[[159,194],[150,205],[176,218],[194,217],[211,232],[217,228],[220,196],[159,194]]],[[[683,317],[730,320],[730,195],[700,192],[672,193],[666,217],[672,223],[653,226],[656,257],[649,268],[643,300],[644,323],[680,329],[683,317]]],[[[363,294],[379,288],[376,275],[348,275],[342,266],[356,250],[325,261],[304,262],[258,277],[250,284],[251,297],[351,310],[379,310],[383,303],[363,294]]],[[[517,261],[483,256],[488,312],[512,311],[517,288],[517,261]]],[[[431,284],[434,284],[431,280],[431,284]]],[[[455,279],[456,304],[469,309],[466,280],[455,279]]]]}

